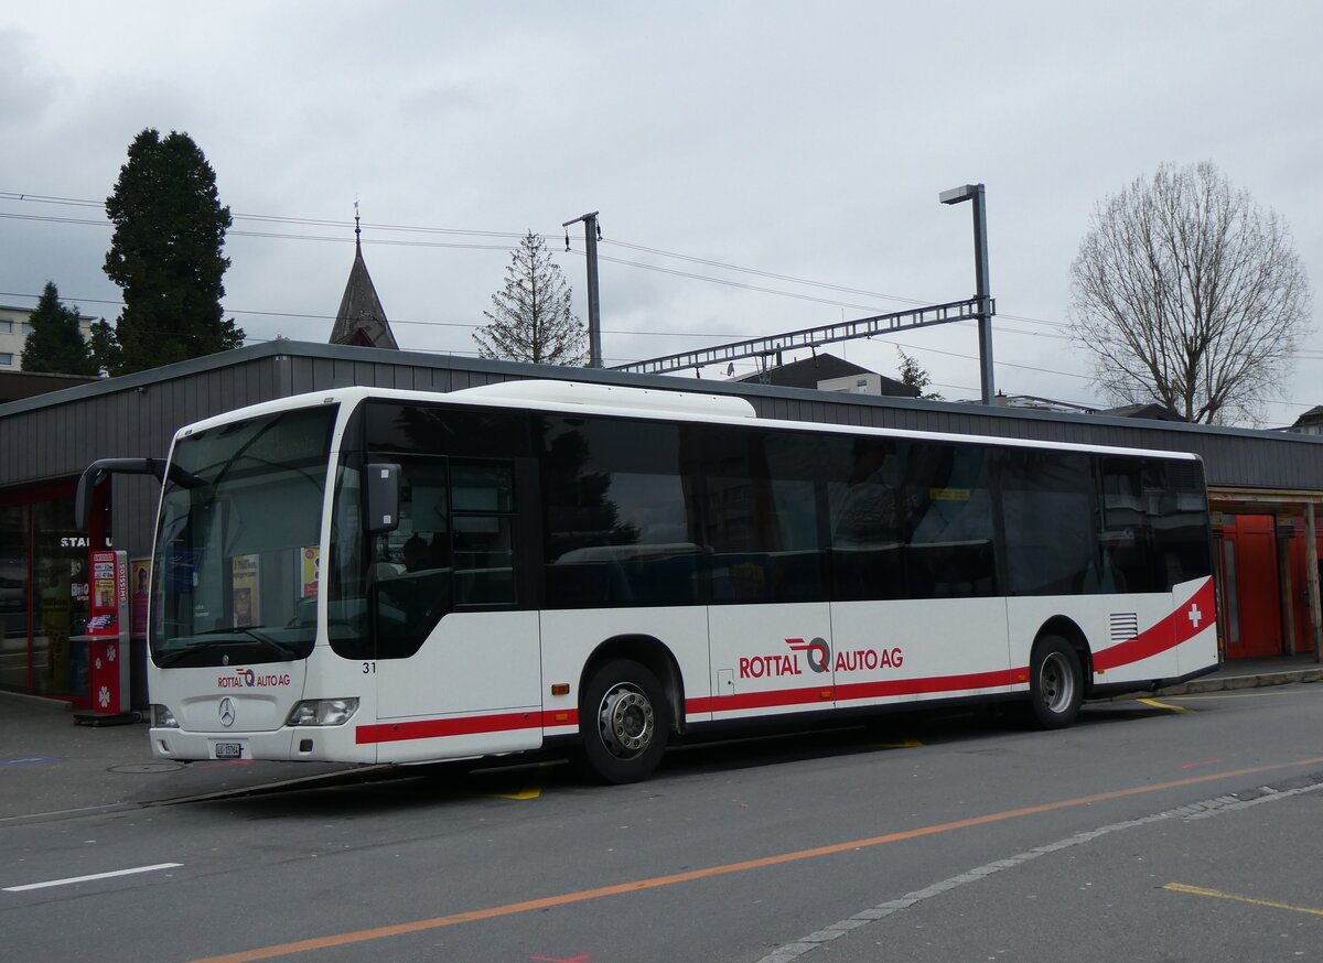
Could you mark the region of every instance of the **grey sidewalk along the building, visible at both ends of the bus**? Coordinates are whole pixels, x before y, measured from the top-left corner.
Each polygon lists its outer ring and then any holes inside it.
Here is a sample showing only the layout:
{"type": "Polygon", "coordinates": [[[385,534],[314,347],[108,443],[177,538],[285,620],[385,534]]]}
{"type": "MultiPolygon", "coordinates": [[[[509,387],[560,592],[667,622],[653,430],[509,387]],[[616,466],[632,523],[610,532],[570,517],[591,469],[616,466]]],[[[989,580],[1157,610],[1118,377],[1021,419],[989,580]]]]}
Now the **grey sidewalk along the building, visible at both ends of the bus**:
{"type": "MultiPolygon", "coordinates": [[[[1323,680],[1314,656],[1244,660],[1159,694],[1323,680]]],[[[1143,693],[1138,693],[1143,694],[1143,693]]],[[[0,692],[0,827],[28,816],[250,792],[368,767],[324,762],[169,762],[147,725],[77,725],[64,702],[0,692]]]]}

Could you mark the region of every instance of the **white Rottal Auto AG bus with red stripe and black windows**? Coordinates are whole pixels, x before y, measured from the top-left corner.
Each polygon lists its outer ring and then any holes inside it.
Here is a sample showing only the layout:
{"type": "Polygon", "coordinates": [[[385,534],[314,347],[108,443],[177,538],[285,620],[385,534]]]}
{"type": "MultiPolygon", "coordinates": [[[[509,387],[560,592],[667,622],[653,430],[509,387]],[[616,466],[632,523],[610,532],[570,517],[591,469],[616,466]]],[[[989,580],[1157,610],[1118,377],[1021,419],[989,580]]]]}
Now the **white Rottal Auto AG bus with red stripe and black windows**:
{"type": "Polygon", "coordinates": [[[1193,455],[523,381],[255,405],[85,483],[115,470],[164,483],[167,759],[564,743],[631,782],[724,721],[1015,698],[1060,728],[1217,663],[1193,455]]]}

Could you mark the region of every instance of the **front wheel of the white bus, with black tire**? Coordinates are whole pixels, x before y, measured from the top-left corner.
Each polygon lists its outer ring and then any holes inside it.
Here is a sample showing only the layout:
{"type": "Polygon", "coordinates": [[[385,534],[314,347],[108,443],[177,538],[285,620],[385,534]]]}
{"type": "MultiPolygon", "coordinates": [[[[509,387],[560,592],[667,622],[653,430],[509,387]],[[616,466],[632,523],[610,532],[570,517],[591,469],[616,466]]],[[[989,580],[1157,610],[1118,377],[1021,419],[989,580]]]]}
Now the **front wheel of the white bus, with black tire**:
{"type": "Polygon", "coordinates": [[[593,672],[579,704],[581,762],[605,783],[647,779],[671,733],[671,704],[644,665],[610,659],[593,672]]]}

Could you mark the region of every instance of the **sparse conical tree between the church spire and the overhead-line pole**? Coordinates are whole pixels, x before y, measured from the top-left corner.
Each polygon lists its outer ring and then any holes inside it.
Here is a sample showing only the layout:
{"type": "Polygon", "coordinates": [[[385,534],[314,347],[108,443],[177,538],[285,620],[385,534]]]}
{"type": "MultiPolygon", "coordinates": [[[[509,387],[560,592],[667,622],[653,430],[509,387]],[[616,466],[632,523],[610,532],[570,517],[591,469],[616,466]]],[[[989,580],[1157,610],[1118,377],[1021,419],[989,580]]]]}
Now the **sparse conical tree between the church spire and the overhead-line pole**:
{"type": "Polygon", "coordinates": [[[505,287],[492,295],[488,324],[474,332],[480,357],[582,365],[583,324],[570,311],[572,288],[533,231],[520,239],[505,267],[505,287]]]}

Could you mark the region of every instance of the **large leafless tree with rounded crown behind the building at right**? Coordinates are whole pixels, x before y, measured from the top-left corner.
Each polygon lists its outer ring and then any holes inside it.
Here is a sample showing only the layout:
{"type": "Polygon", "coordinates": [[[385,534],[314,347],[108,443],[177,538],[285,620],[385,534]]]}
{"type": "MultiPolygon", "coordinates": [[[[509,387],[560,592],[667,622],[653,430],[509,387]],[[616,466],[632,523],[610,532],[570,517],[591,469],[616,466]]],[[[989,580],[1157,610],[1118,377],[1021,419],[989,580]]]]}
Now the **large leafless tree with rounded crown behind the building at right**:
{"type": "Polygon", "coordinates": [[[1209,163],[1164,164],[1101,201],[1070,280],[1099,386],[1191,422],[1259,422],[1308,331],[1290,229],[1209,163]]]}

